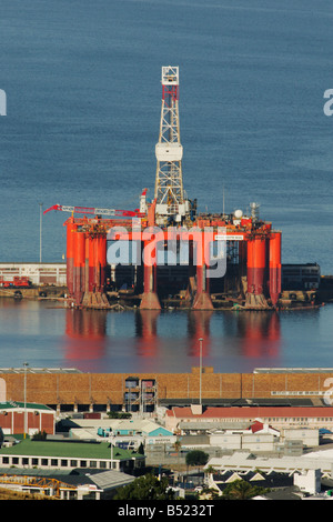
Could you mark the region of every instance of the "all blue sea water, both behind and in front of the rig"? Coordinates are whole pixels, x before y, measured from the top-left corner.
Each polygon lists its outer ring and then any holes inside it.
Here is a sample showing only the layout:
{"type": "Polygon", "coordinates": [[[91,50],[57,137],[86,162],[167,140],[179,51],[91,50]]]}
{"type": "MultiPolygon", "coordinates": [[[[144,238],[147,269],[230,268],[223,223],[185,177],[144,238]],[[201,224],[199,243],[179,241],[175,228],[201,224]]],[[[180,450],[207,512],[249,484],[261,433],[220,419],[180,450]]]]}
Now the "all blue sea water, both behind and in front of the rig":
{"type": "MultiPolygon", "coordinates": [[[[1,261],[39,260],[40,203],[131,210],[143,188],[152,194],[161,67],[172,64],[183,181],[199,210],[221,211],[223,192],[229,212],[259,202],[283,232],[284,263],[333,274],[331,0],[2,0],[0,11],[1,261]]],[[[43,218],[43,261],[63,259],[64,219],[43,218]]],[[[0,367],[179,371],[196,360],[201,320],[143,320],[158,332],[148,342],[138,314],[93,318],[99,341],[63,310],[2,303],[0,367]]],[[[279,327],[253,314],[203,323],[206,362],[221,371],[333,367],[331,305],[284,314],[279,327]]]]}

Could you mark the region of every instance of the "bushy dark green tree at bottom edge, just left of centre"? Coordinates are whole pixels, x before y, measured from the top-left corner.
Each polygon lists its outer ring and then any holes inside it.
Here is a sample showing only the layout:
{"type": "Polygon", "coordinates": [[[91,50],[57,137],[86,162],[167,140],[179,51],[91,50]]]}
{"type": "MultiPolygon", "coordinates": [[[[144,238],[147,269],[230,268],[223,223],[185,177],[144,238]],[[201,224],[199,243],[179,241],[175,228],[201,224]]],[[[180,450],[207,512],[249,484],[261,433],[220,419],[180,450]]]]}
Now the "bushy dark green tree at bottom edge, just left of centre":
{"type": "Polygon", "coordinates": [[[167,478],[159,480],[152,474],[147,474],[117,490],[114,500],[173,500],[173,498],[174,493],[167,478]]]}

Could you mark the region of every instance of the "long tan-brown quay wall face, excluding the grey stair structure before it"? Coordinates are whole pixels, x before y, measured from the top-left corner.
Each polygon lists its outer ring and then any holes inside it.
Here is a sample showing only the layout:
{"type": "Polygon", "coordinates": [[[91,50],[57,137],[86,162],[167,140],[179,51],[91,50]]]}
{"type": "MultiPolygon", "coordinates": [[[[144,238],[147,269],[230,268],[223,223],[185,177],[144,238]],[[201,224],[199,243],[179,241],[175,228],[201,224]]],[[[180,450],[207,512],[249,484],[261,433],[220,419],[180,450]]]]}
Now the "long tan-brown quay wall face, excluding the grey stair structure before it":
{"type": "MultiPolygon", "coordinates": [[[[282,373],[215,373],[212,368],[203,368],[200,382],[200,369],[189,373],[81,373],[65,371],[24,372],[0,371],[0,402],[27,402],[60,404],[124,404],[125,393],[150,392],[154,404],[179,400],[219,399],[300,399],[311,398],[314,404],[324,398],[330,400],[333,390],[332,372],[282,372],[282,373]],[[137,379],[138,385],[129,389],[129,379],[137,379]],[[142,383],[149,383],[142,388],[142,383]]],[[[140,399],[138,399],[139,401],[140,399]]],[[[332,395],[333,403],[333,395],[332,395]]],[[[327,403],[326,403],[327,405],[327,403]]],[[[1,405],[0,405],[1,408],[1,405]]]]}

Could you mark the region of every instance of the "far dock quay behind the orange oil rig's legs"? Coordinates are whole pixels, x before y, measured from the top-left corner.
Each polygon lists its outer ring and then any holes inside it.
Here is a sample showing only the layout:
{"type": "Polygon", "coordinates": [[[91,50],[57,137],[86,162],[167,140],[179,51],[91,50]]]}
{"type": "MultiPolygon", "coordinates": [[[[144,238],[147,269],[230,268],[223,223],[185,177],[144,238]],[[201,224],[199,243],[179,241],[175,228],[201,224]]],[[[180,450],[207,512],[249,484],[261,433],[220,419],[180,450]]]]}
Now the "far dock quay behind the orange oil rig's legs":
{"type": "MultiPolygon", "coordinates": [[[[111,275],[113,269],[112,267],[108,269],[111,275]]],[[[91,292],[91,302],[85,303],[84,308],[104,310],[140,308],[143,294],[135,292],[133,288],[123,288],[123,277],[121,273],[119,281],[114,280],[105,287],[104,300],[100,307],[93,301],[94,294],[91,292]]],[[[0,298],[49,299],[57,300],[63,307],[71,307],[67,263],[0,263],[0,298]],[[18,284],[14,284],[14,278],[19,281],[18,284]]],[[[249,310],[233,292],[211,292],[210,299],[212,310],[249,310]]],[[[278,309],[313,308],[329,302],[333,302],[333,275],[321,275],[316,263],[282,265],[282,289],[278,309]]],[[[184,290],[179,290],[173,295],[160,297],[160,303],[161,309],[192,308],[184,290]]]]}

